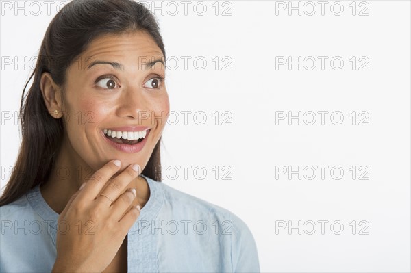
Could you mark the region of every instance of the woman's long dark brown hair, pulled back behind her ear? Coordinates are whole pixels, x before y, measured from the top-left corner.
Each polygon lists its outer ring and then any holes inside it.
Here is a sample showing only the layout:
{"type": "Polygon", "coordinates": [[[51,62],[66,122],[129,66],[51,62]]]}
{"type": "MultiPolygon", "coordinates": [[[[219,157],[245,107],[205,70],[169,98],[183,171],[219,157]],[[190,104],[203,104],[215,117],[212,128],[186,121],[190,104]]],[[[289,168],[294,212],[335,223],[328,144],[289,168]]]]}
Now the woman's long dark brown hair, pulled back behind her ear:
{"type": "MultiPolygon", "coordinates": [[[[66,70],[90,42],[104,34],[146,31],[166,57],[158,23],[151,11],[132,0],[73,0],[53,18],[42,41],[36,67],[21,96],[22,143],[10,180],[0,197],[0,206],[12,203],[25,192],[46,181],[64,133],[63,118],[50,116],[40,90],[42,73],[51,74],[62,86],[66,70]],[[32,86],[25,96],[29,81],[32,86]]],[[[64,97],[64,96],[62,96],[64,97]]],[[[160,142],[145,166],[144,174],[161,181],[160,142]]]]}

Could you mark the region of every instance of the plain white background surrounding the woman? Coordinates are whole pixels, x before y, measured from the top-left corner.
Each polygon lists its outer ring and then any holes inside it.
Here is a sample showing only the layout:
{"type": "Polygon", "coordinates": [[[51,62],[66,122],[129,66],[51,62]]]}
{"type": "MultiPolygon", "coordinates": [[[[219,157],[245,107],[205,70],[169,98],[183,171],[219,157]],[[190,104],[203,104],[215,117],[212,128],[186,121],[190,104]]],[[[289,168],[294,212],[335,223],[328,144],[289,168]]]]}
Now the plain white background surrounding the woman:
{"type": "MultiPolygon", "coordinates": [[[[32,2],[25,4],[27,15],[14,1],[12,10],[2,3],[1,187],[21,141],[14,112],[34,66],[29,59],[36,57],[58,10],[53,1],[49,14],[47,5],[40,11],[32,2]],[[10,57],[13,63],[6,65],[10,57]]],[[[169,66],[175,68],[167,71],[166,84],[179,122],[164,131],[164,183],[244,220],[262,272],[410,272],[410,1],[326,1],[323,15],[317,1],[188,3],[186,14],[180,1],[146,3],[159,20],[169,66]],[[300,5],[301,15],[288,14],[291,4],[300,5]],[[207,11],[200,16],[203,6],[207,11]],[[182,56],[191,57],[186,69],[182,56]],[[301,56],[301,70],[297,64],[279,65],[289,56],[292,61],[301,56]],[[319,56],[327,57],[324,69],[319,56]],[[207,61],[203,70],[201,60],[195,66],[196,57],[207,61]],[[316,66],[309,70],[313,59],[316,66]],[[344,62],[340,70],[338,60],[344,62]],[[223,70],[224,64],[231,70],[223,70]],[[182,111],[192,112],[187,124],[182,111]],[[205,125],[196,124],[201,116],[193,118],[201,111],[205,125]],[[328,112],[324,124],[319,111],[328,112]],[[276,120],[284,112],[301,112],[301,125],[297,119],[276,120]],[[308,125],[312,112],[316,122],[308,125]],[[334,125],[338,114],[343,123],[334,125]],[[187,177],[181,166],[191,166],[187,177]],[[301,179],[298,173],[280,174],[281,166],[301,166],[301,179]],[[313,179],[307,166],[316,170],[313,179]],[[327,166],[324,179],[317,166],[327,166]],[[203,179],[200,170],[193,173],[195,167],[206,169],[203,179]],[[321,220],[328,221],[324,234],[321,220]],[[278,229],[299,221],[301,234],[288,226],[278,229]],[[339,235],[333,221],[343,224],[339,235]],[[316,231],[310,235],[313,222],[316,231]]]]}

